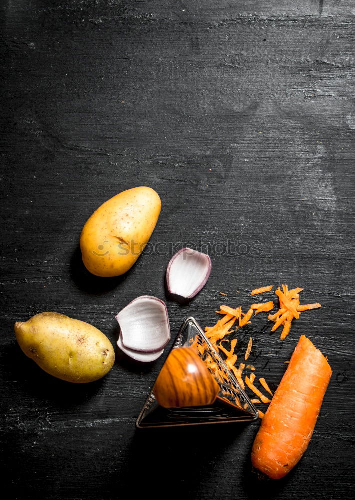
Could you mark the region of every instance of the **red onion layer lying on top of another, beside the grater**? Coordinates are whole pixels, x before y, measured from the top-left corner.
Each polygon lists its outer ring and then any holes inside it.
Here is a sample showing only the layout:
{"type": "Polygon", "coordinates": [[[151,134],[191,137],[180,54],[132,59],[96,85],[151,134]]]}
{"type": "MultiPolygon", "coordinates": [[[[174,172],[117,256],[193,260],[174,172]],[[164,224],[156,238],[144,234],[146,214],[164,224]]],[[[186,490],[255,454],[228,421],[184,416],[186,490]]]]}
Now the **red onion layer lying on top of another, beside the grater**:
{"type": "Polygon", "coordinates": [[[170,340],[170,324],[165,302],[142,295],[117,315],[122,344],[139,352],[159,352],[170,340]]]}

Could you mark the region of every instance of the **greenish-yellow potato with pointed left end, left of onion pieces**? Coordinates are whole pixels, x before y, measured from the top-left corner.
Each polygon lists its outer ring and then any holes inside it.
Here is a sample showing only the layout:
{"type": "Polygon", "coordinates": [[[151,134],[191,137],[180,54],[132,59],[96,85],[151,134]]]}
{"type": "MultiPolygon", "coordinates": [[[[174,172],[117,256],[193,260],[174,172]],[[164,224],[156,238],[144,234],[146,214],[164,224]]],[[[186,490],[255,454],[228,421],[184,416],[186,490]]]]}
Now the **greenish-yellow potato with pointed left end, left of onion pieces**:
{"type": "Polygon", "coordinates": [[[57,312],[41,312],[15,323],[21,349],[44,371],[74,383],[93,382],[114,363],[114,349],[91,324],[57,312]]]}

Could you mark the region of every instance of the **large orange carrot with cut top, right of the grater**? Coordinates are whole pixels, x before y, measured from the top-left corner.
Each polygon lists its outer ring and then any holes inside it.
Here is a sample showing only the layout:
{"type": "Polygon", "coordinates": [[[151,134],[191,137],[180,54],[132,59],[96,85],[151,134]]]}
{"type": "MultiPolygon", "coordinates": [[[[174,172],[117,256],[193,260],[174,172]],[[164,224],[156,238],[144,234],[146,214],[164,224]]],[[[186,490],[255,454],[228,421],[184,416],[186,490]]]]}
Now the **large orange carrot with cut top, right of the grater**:
{"type": "Polygon", "coordinates": [[[307,449],[331,368],[302,335],[256,435],[251,461],[272,479],[284,477],[307,449]]]}

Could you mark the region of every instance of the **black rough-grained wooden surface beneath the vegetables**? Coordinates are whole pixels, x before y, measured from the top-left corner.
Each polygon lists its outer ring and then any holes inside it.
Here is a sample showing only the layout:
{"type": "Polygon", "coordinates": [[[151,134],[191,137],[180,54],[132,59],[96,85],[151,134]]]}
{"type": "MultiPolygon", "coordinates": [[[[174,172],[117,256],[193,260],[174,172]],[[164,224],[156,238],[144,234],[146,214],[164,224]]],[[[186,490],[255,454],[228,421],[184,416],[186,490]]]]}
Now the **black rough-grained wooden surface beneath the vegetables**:
{"type": "Polygon", "coordinates": [[[7,498],[349,498],[353,1],[4,0],[0,8],[7,498]],[[248,245],[212,255],[207,285],[185,306],[165,296],[168,255],[145,254],[117,279],[95,278],[81,263],[88,216],[138,185],[162,199],[152,243],[248,245]],[[261,252],[240,255],[255,243],[261,252]],[[333,376],[308,450],[280,481],[251,470],[258,422],[135,429],[167,350],[149,366],[118,355],[103,380],[76,386],[42,372],[13,334],[16,320],[51,310],[114,342],[114,315],[153,294],[167,301],[175,336],[188,315],[212,324],[220,303],[247,307],[252,288],[282,282],[323,307],[302,314],[284,342],[260,315],[240,347],[251,335],[250,360],[277,384],[306,333],[333,376]]]}

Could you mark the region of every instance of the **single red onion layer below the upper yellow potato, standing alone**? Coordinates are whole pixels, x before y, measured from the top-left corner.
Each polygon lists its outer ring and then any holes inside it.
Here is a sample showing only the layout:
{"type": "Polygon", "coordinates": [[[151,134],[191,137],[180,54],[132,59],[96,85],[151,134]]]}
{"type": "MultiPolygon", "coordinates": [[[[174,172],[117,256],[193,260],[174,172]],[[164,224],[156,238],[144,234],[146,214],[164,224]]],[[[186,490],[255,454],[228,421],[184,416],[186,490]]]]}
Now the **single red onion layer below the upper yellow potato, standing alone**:
{"type": "Polygon", "coordinates": [[[191,248],[182,248],[171,258],[166,270],[169,292],[193,298],[206,284],[212,269],[208,255],[191,248]]]}

